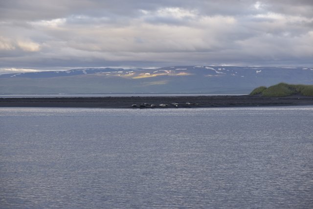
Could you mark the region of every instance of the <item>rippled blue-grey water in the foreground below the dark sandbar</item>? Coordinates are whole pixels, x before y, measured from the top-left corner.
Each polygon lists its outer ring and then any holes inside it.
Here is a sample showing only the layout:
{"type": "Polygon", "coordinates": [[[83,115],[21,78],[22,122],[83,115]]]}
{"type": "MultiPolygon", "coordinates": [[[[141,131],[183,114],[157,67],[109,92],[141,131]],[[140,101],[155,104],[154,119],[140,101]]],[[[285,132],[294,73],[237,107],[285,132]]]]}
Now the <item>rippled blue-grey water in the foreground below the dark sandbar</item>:
{"type": "Polygon", "coordinates": [[[0,108],[0,208],[313,208],[313,107],[0,108]]]}

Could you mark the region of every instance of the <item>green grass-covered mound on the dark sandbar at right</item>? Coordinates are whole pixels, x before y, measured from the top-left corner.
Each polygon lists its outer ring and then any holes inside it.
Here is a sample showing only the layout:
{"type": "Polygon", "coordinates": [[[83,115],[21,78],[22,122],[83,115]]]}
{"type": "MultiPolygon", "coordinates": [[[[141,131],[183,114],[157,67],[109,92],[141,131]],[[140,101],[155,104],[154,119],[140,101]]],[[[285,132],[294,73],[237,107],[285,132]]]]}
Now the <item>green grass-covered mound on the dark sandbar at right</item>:
{"type": "Polygon", "coordinates": [[[262,96],[272,97],[283,97],[283,96],[291,96],[295,94],[303,95],[303,96],[313,96],[313,85],[294,85],[294,84],[286,84],[279,83],[274,86],[265,87],[261,86],[254,89],[250,95],[261,94],[262,96]]]}

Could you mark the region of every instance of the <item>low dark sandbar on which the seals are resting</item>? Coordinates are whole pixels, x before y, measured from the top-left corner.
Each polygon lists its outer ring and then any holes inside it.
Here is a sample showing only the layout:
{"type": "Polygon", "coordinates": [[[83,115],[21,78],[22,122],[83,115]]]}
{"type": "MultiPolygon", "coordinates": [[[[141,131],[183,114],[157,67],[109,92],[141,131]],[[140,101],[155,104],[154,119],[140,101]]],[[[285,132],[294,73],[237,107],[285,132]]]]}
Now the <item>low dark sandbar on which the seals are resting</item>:
{"type": "Polygon", "coordinates": [[[0,107],[71,107],[71,108],[140,108],[140,104],[155,104],[154,108],[210,108],[313,105],[313,97],[261,97],[250,95],[216,96],[107,96],[107,97],[25,97],[0,98],[0,107]],[[137,107],[132,107],[136,104],[137,107]],[[159,104],[167,104],[160,107],[159,104]]]}

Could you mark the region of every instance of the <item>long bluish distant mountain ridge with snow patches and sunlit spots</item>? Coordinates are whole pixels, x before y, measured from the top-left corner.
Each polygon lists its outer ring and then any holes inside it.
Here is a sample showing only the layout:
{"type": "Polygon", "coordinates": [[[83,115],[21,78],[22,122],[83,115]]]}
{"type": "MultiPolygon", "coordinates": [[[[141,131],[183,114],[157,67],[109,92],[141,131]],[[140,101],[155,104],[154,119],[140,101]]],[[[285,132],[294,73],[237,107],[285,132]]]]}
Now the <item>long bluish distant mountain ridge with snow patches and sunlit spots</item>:
{"type": "Polygon", "coordinates": [[[0,75],[0,94],[250,93],[280,82],[313,84],[312,68],[173,66],[87,68],[0,75]]]}

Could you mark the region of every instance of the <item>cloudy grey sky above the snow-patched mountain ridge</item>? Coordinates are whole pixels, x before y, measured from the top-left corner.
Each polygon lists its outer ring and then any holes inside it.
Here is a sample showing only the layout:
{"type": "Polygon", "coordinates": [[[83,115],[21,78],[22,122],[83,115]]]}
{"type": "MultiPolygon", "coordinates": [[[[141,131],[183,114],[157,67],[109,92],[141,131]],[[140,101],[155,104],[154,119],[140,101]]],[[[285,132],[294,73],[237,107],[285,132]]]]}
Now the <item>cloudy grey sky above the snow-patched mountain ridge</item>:
{"type": "Polygon", "coordinates": [[[313,0],[0,0],[0,73],[313,67],[313,0]]]}

